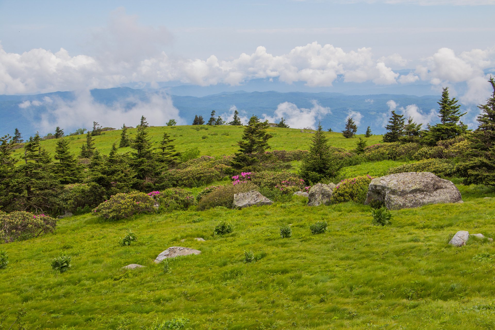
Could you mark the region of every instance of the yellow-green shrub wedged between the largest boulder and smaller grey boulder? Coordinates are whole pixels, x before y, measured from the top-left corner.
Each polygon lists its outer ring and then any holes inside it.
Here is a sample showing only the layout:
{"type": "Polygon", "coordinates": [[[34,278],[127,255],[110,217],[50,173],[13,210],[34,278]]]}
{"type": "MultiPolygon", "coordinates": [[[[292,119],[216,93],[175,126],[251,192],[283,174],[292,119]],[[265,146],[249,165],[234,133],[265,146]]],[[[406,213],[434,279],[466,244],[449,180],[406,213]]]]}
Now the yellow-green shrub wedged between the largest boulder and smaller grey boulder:
{"type": "Polygon", "coordinates": [[[369,175],[342,180],[334,189],[331,197],[333,203],[353,201],[364,203],[368,186],[373,178],[369,175]]]}

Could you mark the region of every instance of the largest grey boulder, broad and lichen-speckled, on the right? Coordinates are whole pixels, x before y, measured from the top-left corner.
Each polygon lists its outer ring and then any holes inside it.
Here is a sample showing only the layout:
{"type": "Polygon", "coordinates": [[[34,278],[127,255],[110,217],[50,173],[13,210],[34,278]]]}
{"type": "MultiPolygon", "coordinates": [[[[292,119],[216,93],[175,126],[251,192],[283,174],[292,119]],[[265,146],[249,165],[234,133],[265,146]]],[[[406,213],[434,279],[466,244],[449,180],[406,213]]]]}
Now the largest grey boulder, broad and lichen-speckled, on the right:
{"type": "Polygon", "coordinates": [[[407,172],[371,180],[364,204],[382,202],[390,210],[462,202],[453,183],[430,172],[407,172]]]}

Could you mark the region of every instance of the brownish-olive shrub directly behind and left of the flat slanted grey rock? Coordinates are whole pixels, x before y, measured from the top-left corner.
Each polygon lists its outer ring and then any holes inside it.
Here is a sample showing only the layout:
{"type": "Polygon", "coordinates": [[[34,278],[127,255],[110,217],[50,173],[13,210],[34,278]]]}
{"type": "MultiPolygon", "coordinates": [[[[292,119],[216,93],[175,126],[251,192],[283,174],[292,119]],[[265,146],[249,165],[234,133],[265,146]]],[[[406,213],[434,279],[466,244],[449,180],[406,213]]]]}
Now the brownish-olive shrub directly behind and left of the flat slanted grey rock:
{"type": "Polygon", "coordinates": [[[258,187],[251,182],[222,186],[203,196],[201,200],[199,200],[198,210],[205,210],[215,206],[232,208],[234,204],[234,194],[257,189],[258,187]]]}

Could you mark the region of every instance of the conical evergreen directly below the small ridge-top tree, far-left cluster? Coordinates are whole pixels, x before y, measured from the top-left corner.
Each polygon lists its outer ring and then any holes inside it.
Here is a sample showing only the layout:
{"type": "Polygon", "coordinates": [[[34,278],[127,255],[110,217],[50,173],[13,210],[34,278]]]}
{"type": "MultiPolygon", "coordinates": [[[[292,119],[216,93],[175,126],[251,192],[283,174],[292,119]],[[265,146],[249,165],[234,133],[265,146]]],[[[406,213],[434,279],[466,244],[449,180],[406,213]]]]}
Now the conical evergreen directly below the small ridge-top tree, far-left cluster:
{"type": "Polygon", "coordinates": [[[69,142],[67,140],[58,139],[53,158],[58,160],[53,164],[53,173],[62,185],[81,181],[83,166],[78,164],[76,157],[69,152],[69,142]]]}

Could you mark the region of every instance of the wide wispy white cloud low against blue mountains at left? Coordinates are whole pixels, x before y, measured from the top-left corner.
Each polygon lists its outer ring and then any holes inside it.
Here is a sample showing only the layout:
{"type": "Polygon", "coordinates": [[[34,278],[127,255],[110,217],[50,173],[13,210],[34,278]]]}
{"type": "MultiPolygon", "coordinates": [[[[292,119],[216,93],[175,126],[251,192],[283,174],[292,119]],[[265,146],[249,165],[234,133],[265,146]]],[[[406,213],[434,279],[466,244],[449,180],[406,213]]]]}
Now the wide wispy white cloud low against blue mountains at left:
{"type": "MultiPolygon", "coordinates": [[[[123,123],[132,125],[138,123],[142,115],[147,117],[148,123],[153,126],[164,126],[170,119],[177,123],[185,124],[179,117],[179,110],[174,107],[172,99],[165,93],[152,94],[148,100],[143,101],[128,98],[112,105],[101,104],[91,96],[88,90],[74,92],[73,100],[64,100],[59,97],[46,98],[39,105],[46,107],[47,111],[41,112],[40,133],[51,132],[53,127],[60,126],[67,130],[92,127],[93,121],[105,127],[120,127],[123,123]]],[[[35,111],[36,104],[19,103],[24,111],[35,111]]],[[[32,116],[29,116],[32,117],[32,116]]]]}

